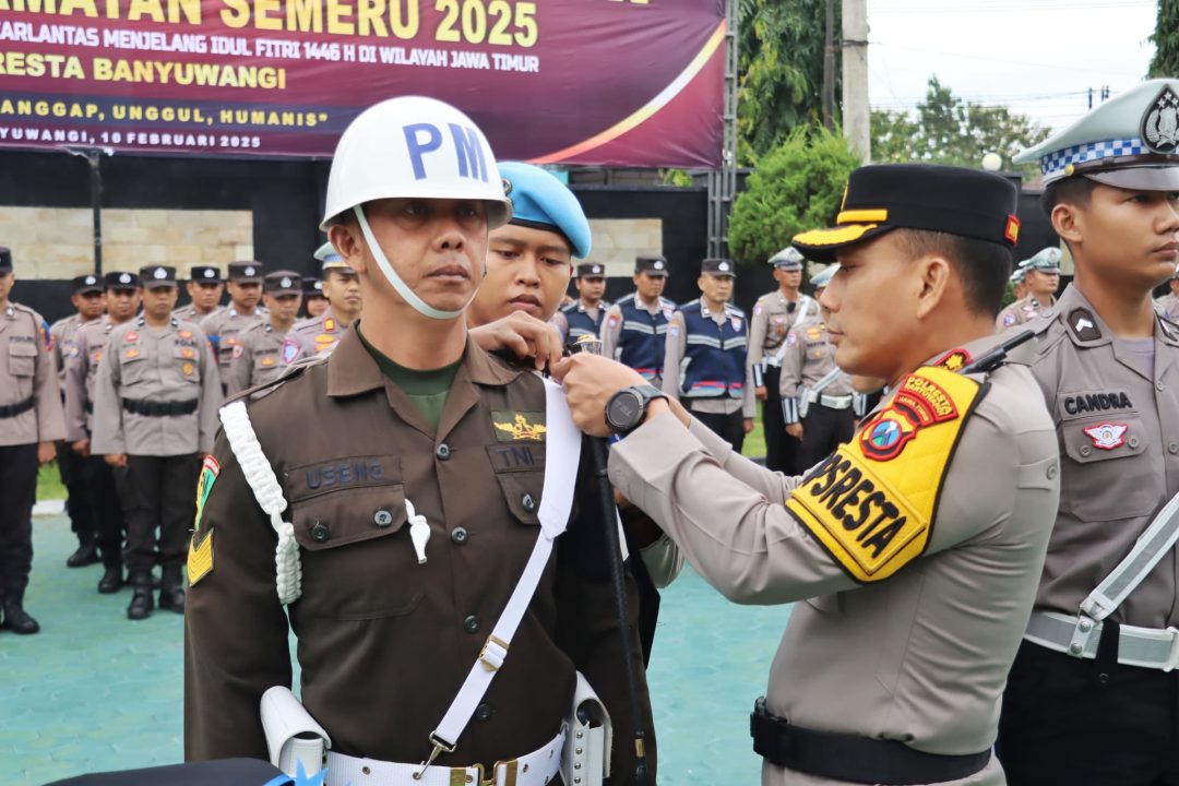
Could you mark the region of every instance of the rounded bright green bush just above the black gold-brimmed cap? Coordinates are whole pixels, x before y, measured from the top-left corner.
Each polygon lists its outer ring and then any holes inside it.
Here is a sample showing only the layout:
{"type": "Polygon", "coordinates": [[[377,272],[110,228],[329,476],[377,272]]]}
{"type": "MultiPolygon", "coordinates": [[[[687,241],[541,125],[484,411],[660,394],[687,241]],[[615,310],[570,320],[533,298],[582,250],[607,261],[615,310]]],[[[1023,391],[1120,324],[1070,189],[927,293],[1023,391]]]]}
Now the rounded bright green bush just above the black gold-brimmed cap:
{"type": "Polygon", "coordinates": [[[838,133],[799,127],[762,157],[729,219],[729,250],[764,264],[798,232],[826,226],[859,160],[838,133]]]}

